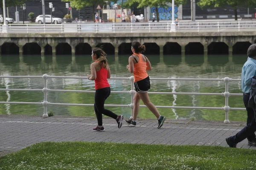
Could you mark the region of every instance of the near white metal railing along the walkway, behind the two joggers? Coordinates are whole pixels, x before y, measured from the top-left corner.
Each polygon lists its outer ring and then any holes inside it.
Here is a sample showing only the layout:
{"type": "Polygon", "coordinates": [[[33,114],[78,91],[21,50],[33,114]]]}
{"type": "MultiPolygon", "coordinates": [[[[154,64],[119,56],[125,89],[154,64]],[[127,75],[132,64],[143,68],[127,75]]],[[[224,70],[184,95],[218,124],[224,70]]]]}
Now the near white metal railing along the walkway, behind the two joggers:
{"type": "MultiPolygon", "coordinates": [[[[81,90],[58,90],[58,89],[49,89],[47,88],[47,80],[50,78],[62,78],[62,79],[87,79],[87,77],[64,77],[64,76],[49,76],[44,74],[43,76],[0,76],[0,78],[43,78],[44,79],[44,88],[43,89],[0,89],[0,91],[38,91],[44,93],[44,101],[43,102],[0,102],[0,104],[28,104],[28,105],[43,105],[44,106],[44,117],[47,117],[47,106],[48,105],[68,105],[68,106],[94,106],[93,104],[70,104],[70,103],[51,103],[47,101],[47,93],[50,91],[54,92],[77,92],[77,93],[95,93],[95,91],[81,91],[81,90]]],[[[111,91],[112,94],[130,94],[131,95],[131,103],[128,105],[105,105],[107,107],[129,107],[131,108],[131,113],[134,108],[134,77],[114,77],[111,79],[120,79],[120,80],[128,80],[131,82],[131,90],[130,91],[111,91]]],[[[243,94],[231,94],[229,92],[229,83],[231,81],[241,81],[241,79],[230,79],[229,77],[225,77],[223,79],[184,79],[184,78],[150,78],[151,80],[180,80],[180,81],[224,81],[225,83],[225,92],[223,93],[182,93],[182,92],[148,92],[148,94],[183,94],[183,95],[209,95],[209,96],[224,96],[225,97],[225,105],[224,107],[182,107],[182,106],[156,106],[157,108],[180,108],[180,109],[210,109],[210,110],[223,110],[226,112],[224,123],[229,123],[228,112],[233,110],[246,110],[245,108],[230,108],[228,105],[228,99],[230,96],[243,96],[243,94]]],[[[140,107],[146,107],[145,105],[141,105],[140,107]]]]}

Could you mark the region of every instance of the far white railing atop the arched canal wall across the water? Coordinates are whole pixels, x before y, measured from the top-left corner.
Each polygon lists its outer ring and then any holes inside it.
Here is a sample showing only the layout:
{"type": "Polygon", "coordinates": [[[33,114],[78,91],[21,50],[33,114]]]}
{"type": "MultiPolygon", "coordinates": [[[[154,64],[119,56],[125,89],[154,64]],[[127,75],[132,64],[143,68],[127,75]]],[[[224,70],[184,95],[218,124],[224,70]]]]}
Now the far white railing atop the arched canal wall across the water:
{"type": "MultiPolygon", "coordinates": [[[[172,23],[9,24],[10,33],[170,32],[172,23]]],[[[256,21],[180,22],[176,31],[254,31],[256,21]]]]}

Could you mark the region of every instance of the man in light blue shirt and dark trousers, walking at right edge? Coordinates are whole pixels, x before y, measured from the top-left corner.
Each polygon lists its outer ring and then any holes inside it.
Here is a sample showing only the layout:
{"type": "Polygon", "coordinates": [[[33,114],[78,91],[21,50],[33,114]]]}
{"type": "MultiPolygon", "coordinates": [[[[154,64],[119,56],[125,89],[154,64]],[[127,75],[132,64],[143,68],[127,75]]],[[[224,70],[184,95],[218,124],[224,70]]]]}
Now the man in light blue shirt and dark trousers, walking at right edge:
{"type": "Polygon", "coordinates": [[[241,87],[244,93],[243,101],[247,111],[247,126],[239,131],[235,136],[226,138],[226,142],[230,147],[236,147],[236,144],[248,139],[248,145],[256,146],[256,121],[253,108],[248,108],[248,102],[250,99],[251,81],[253,77],[256,77],[256,44],[251,45],[248,48],[247,62],[244,63],[241,74],[241,87]]]}

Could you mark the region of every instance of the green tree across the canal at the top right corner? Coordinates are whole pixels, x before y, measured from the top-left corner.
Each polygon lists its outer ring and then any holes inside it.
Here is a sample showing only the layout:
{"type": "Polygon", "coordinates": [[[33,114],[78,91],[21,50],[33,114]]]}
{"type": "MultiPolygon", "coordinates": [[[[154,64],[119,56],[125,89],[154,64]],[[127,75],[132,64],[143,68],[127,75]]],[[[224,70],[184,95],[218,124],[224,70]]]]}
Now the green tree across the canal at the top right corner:
{"type": "Polygon", "coordinates": [[[235,20],[237,20],[237,9],[242,6],[254,8],[256,0],[199,0],[197,4],[201,8],[225,7],[229,5],[234,9],[235,20]]]}

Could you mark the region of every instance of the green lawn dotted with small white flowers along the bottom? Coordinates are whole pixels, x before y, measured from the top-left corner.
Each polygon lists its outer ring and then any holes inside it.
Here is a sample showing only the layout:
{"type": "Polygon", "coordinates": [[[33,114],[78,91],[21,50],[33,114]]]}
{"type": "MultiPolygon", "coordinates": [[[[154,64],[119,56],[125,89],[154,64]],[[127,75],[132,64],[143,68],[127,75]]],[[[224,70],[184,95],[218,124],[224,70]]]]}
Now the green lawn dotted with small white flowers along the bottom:
{"type": "Polygon", "coordinates": [[[47,142],[0,158],[0,170],[239,169],[256,169],[256,150],[208,146],[47,142]]]}

